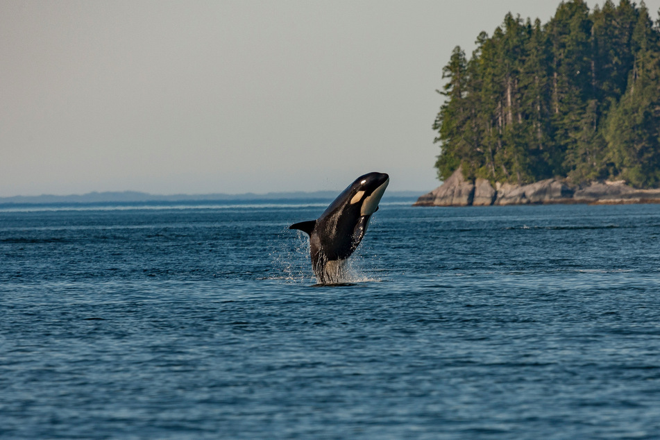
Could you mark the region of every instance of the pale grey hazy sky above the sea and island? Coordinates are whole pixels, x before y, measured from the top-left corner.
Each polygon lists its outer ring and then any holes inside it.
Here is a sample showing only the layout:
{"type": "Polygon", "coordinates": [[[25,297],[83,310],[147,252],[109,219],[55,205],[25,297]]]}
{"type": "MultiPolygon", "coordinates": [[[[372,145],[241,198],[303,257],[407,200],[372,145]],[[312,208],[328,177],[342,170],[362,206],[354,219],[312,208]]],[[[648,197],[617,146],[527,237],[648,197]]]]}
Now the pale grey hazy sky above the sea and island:
{"type": "Polygon", "coordinates": [[[559,3],[0,0],[0,196],[428,192],[452,49],[559,3]]]}

